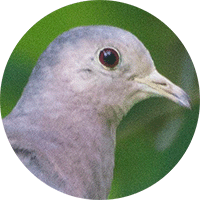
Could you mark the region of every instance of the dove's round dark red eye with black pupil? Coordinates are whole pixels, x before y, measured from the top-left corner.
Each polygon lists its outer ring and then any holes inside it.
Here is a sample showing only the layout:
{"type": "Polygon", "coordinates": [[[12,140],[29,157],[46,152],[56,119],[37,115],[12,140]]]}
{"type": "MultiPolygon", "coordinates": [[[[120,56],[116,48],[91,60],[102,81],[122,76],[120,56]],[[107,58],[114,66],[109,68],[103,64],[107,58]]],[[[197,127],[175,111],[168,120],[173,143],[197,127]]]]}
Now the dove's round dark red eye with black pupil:
{"type": "Polygon", "coordinates": [[[119,63],[119,54],[112,48],[105,48],[100,51],[99,60],[102,65],[113,69],[119,63]]]}

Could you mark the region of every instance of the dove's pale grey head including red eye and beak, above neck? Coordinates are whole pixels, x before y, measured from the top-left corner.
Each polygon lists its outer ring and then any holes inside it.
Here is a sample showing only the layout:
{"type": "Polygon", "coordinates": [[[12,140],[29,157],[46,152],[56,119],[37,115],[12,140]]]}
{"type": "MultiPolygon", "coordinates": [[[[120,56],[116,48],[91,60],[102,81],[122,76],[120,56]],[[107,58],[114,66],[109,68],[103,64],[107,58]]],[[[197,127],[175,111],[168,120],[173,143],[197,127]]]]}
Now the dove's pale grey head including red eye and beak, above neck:
{"type": "MultiPolygon", "coordinates": [[[[38,63],[54,66],[54,85],[61,86],[63,93],[73,92],[79,101],[101,111],[112,108],[124,115],[134,104],[152,96],[190,107],[188,95],[158,73],[142,42],[116,27],[67,31],[50,44],[38,63]]],[[[43,67],[43,71],[48,70],[43,67]]]]}

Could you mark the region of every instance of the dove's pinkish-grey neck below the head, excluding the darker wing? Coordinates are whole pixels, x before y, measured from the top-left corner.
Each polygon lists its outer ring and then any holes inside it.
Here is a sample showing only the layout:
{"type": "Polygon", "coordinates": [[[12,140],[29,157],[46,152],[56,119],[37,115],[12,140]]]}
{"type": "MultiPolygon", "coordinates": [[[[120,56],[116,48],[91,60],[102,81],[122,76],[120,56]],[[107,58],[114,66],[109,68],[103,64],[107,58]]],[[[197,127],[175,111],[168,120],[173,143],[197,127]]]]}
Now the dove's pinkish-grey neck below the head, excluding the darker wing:
{"type": "Polygon", "coordinates": [[[11,117],[19,126],[26,126],[29,134],[40,130],[38,138],[48,144],[39,147],[40,151],[51,152],[46,155],[48,160],[56,163],[54,170],[69,184],[58,190],[106,199],[113,177],[116,124],[88,100],[72,97],[55,101],[56,95],[25,93],[11,117]],[[54,148],[53,152],[48,148],[54,148]]]}

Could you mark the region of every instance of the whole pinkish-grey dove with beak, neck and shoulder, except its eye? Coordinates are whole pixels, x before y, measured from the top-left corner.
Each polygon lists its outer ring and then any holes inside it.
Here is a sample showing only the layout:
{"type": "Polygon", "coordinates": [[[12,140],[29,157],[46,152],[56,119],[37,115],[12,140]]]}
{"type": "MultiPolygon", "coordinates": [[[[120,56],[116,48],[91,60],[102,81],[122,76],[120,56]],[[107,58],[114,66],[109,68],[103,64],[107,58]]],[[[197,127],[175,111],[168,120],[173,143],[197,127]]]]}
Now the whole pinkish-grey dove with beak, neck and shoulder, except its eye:
{"type": "Polygon", "coordinates": [[[17,156],[40,180],[69,195],[106,199],[116,128],[134,104],[155,95],[190,106],[134,35],[110,26],[78,27],[43,52],[3,123],[17,156]],[[103,48],[119,53],[113,70],[99,61],[103,48]]]}

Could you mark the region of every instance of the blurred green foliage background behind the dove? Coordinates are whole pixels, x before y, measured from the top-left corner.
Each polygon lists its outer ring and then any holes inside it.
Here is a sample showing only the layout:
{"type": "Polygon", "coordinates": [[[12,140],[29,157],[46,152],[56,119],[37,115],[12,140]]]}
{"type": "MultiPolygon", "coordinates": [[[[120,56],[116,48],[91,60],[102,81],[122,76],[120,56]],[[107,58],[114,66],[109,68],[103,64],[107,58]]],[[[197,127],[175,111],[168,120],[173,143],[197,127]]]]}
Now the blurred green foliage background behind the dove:
{"type": "Polygon", "coordinates": [[[49,43],[64,31],[83,25],[111,25],[132,32],[150,51],[158,71],[182,87],[192,101],[192,109],[188,110],[165,98],[151,98],[134,106],[124,118],[117,130],[116,164],[109,196],[119,198],[156,183],[183,156],[199,114],[198,81],[183,44],[157,18],[118,2],[81,2],[49,14],[17,44],[2,80],[2,117],[16,105],[49,43]]]}

